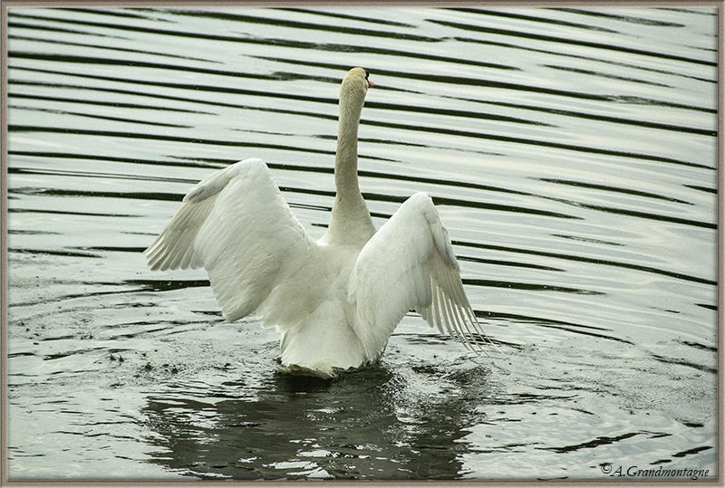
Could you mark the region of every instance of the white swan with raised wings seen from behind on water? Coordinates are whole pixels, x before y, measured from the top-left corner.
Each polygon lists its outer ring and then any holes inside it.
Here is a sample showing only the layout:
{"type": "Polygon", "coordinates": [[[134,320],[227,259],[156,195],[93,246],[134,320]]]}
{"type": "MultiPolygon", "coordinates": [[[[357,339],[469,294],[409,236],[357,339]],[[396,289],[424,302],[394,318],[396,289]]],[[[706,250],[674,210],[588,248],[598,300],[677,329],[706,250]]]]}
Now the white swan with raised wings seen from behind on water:
{"type": "Polygon", "coordinates": [[[485,337],[463,290],[459,263],[430,196],[408,198],[376,231],[357,175],[369,73],[343,79],[330,225],[314,241],[261,159],[202,179],[144,251],[152,270],[204,267],[222,314],[252,312],[281,333],[281,368],[333,378],[382,355],[412,309],[469,349],[485,337]]]}

